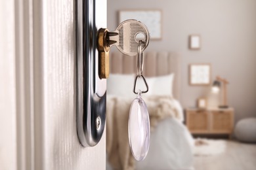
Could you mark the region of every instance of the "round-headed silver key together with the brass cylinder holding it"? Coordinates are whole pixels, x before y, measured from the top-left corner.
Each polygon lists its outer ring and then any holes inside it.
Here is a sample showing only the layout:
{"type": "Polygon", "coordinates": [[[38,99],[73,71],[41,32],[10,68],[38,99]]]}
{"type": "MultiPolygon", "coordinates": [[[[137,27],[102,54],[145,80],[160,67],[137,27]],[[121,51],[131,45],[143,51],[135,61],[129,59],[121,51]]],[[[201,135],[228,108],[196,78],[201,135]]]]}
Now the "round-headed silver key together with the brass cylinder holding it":
{"type": "Polygon", "coordinates": [[[128,56],[136,56],[138,54],[139,42],[141,44],[141,52],[148,46],[150,34],[146,25],[137,20],[126,20],[122,22],[116,31],[108,31],[108,29],[100,28],[98,30],[98,76],[100,78],[108,78],[109,70],[109,51],[111,46],[128,56]]]}

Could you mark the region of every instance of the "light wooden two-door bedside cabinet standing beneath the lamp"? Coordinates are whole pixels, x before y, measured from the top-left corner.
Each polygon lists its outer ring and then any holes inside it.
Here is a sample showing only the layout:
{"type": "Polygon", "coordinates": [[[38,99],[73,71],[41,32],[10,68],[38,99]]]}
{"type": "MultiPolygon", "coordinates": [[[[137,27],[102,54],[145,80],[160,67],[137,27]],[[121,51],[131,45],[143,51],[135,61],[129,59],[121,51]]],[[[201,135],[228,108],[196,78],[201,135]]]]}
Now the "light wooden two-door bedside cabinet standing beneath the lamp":
{"type": "Polygon", "coordinates": [[[234,109],[186,109],[186,126],[192,134],[232,135],[234,109]]]}

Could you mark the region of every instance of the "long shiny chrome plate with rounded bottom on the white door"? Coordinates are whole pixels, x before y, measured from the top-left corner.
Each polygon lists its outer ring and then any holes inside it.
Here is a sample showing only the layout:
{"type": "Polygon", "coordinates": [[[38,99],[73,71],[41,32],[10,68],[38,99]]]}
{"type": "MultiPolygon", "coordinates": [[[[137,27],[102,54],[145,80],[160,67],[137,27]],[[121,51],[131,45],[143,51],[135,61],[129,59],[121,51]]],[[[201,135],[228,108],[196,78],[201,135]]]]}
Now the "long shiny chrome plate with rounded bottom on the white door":
{"type": "Polygon", "coordinates": [[[106,122],[106,79],[98,76],[97,30],[106,27],[106,0],[76,1],[77,135],[95,146],[106,122]]]}

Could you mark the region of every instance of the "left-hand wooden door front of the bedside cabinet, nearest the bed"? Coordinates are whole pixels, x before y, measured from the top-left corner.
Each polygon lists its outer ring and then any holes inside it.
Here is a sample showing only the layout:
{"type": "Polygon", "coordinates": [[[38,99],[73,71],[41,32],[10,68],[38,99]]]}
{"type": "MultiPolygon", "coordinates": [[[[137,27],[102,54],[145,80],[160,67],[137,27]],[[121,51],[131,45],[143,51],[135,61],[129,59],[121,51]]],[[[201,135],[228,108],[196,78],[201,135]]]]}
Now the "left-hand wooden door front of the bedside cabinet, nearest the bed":
{"type": "Polygon", "coordinates": [[[186,113],[186,125],[191,132],[203,133],[208,131],[208,114],[207,111],[195,110],[186,113]]]}

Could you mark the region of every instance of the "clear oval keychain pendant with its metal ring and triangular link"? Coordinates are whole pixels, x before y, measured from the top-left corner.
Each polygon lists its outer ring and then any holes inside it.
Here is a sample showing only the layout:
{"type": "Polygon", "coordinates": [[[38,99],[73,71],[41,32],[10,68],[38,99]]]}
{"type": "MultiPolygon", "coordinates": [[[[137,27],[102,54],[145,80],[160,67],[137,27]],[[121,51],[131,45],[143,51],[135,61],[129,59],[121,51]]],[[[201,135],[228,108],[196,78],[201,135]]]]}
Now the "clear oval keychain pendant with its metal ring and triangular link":
{"type": "Polygon", "coordinates": [[[139,41],[138,46],[138,61],[137,61],[137,76],[135,77],[133,92],[137,94],[137,97],[131,103],[129,113],[129,144],[131,152],[137,161],[144,160],[148,154],[148,148],[150,146],[150,120],[148,115],[148,108],[146,103],[142,99],[142,93],[148,92],[148,84],[144,78],[143,71],[143,60],[144,54],[142,52],[143,42],[139,41]],[[146,90],[136,91],[136,84],[138,78],[142,78],[146,85],[146,90]]]}

